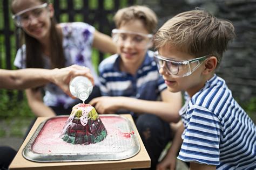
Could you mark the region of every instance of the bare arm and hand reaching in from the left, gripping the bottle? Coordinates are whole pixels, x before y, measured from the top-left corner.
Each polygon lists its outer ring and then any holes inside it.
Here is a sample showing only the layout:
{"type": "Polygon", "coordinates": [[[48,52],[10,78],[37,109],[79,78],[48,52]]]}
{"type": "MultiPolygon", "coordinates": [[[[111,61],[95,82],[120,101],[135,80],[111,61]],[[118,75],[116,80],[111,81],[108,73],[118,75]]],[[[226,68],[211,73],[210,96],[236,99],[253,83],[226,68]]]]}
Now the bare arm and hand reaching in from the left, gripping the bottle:
{"type": "Polygon", "coordinates": [[[69,91],[69,82],[72,77],[83,75],[93,83],[90,70],[85,67],[73,65],[62,69],[26,68],[19,70],[0,69],[0,88],[25,89],[42,86],[52,82],[57,84],[66,94],[72,96],[69,91]]]}

